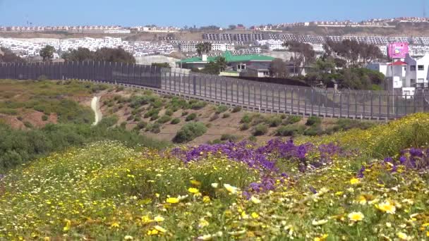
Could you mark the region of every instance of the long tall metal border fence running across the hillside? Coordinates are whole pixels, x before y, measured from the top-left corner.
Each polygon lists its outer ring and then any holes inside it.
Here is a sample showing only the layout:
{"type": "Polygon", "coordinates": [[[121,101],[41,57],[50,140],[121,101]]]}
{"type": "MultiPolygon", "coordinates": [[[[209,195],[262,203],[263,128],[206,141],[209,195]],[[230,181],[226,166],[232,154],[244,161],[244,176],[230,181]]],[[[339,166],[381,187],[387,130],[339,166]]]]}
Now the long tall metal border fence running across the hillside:
{"type": "Polygon", "coordinates": [[[0,79],[90,80],[150,88],[250,111],[301,116],[389,120],[429,111],[429,90],[398,92],[320,89],[185,73],[156,66],[111,62],[4,63],[0,79]]]}

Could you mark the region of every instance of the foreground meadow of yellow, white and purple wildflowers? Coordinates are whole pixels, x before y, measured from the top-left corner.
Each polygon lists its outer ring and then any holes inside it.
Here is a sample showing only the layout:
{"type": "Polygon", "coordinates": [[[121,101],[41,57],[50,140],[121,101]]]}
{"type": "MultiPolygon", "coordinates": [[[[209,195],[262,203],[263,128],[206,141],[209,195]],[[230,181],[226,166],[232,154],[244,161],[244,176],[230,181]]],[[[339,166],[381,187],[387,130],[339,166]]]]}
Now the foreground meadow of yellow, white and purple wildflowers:
{"type": "Polygon", "coordinates": [[[71,148],[0,175],[0,240],[428,240],[429,114],[263,144],[71,148]]]}

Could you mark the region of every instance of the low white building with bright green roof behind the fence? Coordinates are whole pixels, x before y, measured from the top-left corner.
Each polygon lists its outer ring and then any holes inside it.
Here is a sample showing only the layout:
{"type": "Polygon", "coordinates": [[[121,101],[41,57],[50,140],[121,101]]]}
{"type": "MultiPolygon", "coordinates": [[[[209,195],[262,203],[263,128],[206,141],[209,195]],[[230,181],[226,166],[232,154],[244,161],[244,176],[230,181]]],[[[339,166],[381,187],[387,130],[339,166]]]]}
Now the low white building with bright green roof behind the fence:
{"type": "MultiPolygon", "coordinates": [[[[230,51],[225,51],[222,56],[225,58],[226,63],[229,66],[229,69],[241,72],[241,70],[246,70],[248,66],[260,66],[264,65],[267,68],[270,67],[271,62],[274,58],[270,56],[264,56],[259,54],[250,54],[250,55],[232,55],[230,51]]],[[[186,58],[181,61],[176,62],[176,66],[182,68],[198,68],[202,69],[207,63],[216,62],[217,56],[195,56],[193,58],[186,58]]]]}

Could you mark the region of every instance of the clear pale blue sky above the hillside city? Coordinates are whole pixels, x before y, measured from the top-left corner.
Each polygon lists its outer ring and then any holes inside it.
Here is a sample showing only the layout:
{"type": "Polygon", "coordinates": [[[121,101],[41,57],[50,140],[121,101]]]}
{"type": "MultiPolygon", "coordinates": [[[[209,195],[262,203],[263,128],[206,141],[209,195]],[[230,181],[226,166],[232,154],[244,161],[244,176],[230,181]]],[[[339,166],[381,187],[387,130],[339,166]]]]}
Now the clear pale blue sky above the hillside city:
{"type": "MultiPolygon", "coordinates": [[[[424,0],[0,0],[0,25],[255,25],[423,16],[424,0]],[[405,3],[405,4],[404,4],[405,3]]],[[[428,0],[429,2],[429,0],[428,0]]],[[[426,4],[429,15],[429,6],[426,4]]]]}

